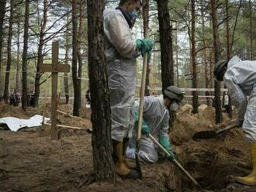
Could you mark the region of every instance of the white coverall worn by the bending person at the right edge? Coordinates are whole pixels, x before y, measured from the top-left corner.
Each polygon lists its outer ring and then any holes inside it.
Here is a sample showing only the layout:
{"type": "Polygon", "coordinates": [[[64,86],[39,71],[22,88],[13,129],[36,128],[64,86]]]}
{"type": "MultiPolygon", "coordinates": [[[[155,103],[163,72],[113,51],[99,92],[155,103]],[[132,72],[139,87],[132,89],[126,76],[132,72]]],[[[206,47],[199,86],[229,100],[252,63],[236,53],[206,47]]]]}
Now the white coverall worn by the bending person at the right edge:
{"type": "Polygon", "coordinates": [[[238,109],[239,120],[244,120],[242,129],[247,140],[256,142],[256,60],[232,57],[223,81],[238,109]]]}

